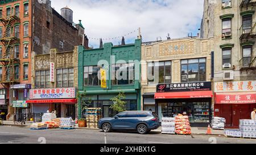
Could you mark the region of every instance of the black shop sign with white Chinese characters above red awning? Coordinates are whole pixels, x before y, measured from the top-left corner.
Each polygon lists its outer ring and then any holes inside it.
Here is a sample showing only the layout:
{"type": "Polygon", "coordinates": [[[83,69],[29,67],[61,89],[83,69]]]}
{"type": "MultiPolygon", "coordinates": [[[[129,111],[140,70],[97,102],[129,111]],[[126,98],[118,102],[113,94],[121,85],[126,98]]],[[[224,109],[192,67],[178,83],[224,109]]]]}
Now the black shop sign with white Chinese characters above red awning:
{"type": "Polygon", "coordinates": [[[175,84],[158,84],[156,92],[190,92],[190,91],[210,91],[211,82],[191,82],[175,84]]]}

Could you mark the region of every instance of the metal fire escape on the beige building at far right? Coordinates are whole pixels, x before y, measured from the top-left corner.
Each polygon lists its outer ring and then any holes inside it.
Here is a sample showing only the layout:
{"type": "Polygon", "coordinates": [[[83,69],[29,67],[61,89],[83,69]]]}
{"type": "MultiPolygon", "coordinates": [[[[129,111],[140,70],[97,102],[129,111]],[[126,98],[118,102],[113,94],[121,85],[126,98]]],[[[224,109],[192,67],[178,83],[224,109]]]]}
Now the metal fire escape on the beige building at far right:
{"type": "MultiPolygon", "coordinates": [[[[256,2],[251,2],[251,0],[243,0],[240,5],[241,12],[254,12],[255,11],[256,2]]],[[[240,42],[241,44],[245,44],[246,42],[253,43],[254,38],[256,38],[256,22],[251,21],[247,23],[243,23],[240,28],[240,42]]],[[[253,48],[252,48],[253,49],[253,48]]],[[[242,59],[240,59],[240,71],[246,71],[247,73],[250,70],[256,69],[256,51],[251,50],[251,55],[243,55],[242,59]]]]}

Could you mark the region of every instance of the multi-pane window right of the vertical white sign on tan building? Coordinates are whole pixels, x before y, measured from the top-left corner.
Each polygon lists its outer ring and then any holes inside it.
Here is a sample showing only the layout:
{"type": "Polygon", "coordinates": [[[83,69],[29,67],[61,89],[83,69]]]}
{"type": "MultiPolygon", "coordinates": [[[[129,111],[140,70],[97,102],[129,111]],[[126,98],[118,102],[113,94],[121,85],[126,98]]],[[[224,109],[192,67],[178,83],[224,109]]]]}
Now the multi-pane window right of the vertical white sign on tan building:
{"type": "Polygon", "coordinates": [[[73,87],[74,85],[74,69],[65,68],[57,69],[57,87],[73,87]]]}

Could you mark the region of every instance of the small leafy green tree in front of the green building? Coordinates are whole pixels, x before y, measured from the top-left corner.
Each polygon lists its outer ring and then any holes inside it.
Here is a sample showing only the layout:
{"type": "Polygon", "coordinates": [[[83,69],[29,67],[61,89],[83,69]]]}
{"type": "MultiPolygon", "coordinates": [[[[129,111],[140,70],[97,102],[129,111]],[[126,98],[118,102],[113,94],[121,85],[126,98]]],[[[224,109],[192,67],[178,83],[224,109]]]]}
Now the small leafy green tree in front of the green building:
{"type": "Polygon", "coordinates": [[[111,98],[110,100],[114,102],[113,105],[110,106],[111,109],[117,111],[118,113],[121,113],[122,111],[126,110],[126,101],[122,101],[122,99],[125,99],[125,93],[120,92],[117,96],[111,98]]]}

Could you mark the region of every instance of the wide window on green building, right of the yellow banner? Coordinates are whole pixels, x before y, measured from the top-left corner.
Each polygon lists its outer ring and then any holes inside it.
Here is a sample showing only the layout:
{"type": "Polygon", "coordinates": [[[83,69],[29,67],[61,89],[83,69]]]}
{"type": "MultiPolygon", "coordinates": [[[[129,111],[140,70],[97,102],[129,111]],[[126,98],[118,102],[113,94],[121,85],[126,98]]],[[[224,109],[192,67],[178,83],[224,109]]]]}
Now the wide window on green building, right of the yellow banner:
{"type": "Polygon", "coordinates": [[[112,64],[112,84],[134,84],[134,63],[112,64]]]}

